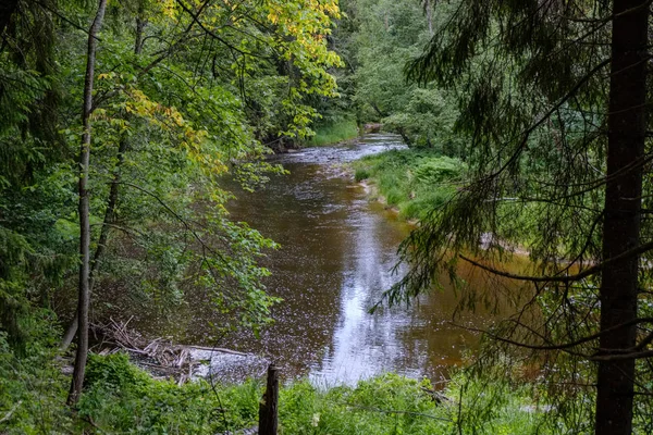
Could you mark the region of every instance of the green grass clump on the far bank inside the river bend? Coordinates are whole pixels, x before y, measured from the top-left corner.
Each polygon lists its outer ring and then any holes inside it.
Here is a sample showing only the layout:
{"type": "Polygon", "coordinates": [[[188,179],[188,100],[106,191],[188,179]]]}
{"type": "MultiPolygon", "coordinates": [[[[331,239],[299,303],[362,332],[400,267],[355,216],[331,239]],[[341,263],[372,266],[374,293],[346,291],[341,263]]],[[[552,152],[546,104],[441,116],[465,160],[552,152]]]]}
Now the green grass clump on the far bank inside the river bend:
{"type": "Polygon", "coordinates": [[[369,179],[404,217],[421,220],[456,192],[467,166],[434,150],[405,149],[365,157],[354,170],[356,181],[369,179]]]}

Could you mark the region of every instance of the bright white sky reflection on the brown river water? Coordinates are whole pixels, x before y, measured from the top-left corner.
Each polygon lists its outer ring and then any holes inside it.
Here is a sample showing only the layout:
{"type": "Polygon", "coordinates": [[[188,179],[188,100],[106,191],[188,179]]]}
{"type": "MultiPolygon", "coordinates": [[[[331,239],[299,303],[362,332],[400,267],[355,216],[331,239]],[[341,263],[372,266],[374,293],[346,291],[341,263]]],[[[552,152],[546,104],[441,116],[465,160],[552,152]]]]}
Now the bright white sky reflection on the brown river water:
{"type": "Polygon", "coordinates": [[[404,343],[397,334],[410,325],[408,313],[398,309],[369,312],[382,291],[398,279],[391,272],[397,261],[396,245],[389,246],[387,239],[397,240],[402,235],[387,237],[387,232],[397,231],[386,219],[383,214],[370,213],[365,200],[350,204],[338,321],[322,361],[311,366],[310,377],[317,384],[354,384],[385,371],[419,374],[417,368],[402,363],[404,343]]]}

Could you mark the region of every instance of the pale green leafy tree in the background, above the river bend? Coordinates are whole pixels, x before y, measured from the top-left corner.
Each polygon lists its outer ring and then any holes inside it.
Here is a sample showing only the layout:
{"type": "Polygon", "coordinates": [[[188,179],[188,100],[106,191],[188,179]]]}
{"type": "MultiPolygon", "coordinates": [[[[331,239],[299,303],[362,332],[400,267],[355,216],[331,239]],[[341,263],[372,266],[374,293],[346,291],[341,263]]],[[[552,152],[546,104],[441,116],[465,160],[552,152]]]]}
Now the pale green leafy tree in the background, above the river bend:
{"type": "Polygon", "coordinates": [[[348,39],[338,46],[350,52],[347,58],[355,65],[350,99],[359,123],[381,122],[409,146],[461,157],[465,139],[453,132],[457,110],[449,92],[431,85],[419,88],[403,74],[403,65],[432,36],[433,2],[358,0],[345,5],[353,29],[336,37],[348,39]]]}

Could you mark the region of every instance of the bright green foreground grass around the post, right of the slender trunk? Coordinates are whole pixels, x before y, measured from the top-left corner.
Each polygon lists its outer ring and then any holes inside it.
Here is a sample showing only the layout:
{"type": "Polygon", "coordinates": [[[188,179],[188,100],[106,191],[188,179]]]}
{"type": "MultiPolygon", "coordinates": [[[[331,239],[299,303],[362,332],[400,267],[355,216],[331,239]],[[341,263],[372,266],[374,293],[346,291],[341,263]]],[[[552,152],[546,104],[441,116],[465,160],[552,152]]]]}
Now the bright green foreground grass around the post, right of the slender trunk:
{"type": "MultiPolygon", "coordinates": [[[[262,383],[252,380],[215,389],[205,382],[178,387],[153,381],[121,355],[91,358],[87,384],[79,415],[107,433],[214,434],[252,427],[262,395],[262,383]]],[[[280,391],[279,434],[449,434],[457,422],[465,433],[531,434],[542,413],[525,410],[529,394],[523,386],[488,385],[461,375],[444,391],[448,398],[439,400],[428,380],[392,373],[328,389],[304,380],[280,391]],[[459,420],[461,388],[470,412],[459,420]],[[481,406],[491,412],[481,412],[481,406]]]]}

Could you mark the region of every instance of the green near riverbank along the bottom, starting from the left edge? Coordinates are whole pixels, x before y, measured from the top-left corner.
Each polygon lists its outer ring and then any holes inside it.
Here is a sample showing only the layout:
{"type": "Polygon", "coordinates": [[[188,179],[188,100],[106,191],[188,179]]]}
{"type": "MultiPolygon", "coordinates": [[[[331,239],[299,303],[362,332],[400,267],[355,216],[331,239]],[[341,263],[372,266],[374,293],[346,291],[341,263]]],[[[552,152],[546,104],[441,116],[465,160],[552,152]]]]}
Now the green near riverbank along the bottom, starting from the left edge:
{"type": "MultiPolygon", "coordinates": [[[[30,339],[29,350],[22,357],[0,336],[1,433],[255,433],[251,427],[257,423],[262,380],[237,385],[199,380],[178,385],[172,380],[152,378],[125,353],[90,356],[84,393],[76,412],[71,412],[65,405],[70,378],[62,373],[52,340],[56,319],[35,321],[40,333],[30,339]],[[20,373],[17,366],[22,368],[20,373]]],[[[488,388],[463,373],[441,391],[429,381],[396,374],[330,388],[318,388],[307,380],[294,381],[280,391],[279,433],[446,434],[457,424],[465,433],[533,433],[545,412],[529,398],[529,388],[500,383],[488,388]],[[497,397],[502,399],[493,403],[492,413],[482,419],[460,419],[460,409],[467,412],[488,406],[497,397]]]]}

